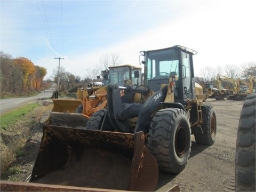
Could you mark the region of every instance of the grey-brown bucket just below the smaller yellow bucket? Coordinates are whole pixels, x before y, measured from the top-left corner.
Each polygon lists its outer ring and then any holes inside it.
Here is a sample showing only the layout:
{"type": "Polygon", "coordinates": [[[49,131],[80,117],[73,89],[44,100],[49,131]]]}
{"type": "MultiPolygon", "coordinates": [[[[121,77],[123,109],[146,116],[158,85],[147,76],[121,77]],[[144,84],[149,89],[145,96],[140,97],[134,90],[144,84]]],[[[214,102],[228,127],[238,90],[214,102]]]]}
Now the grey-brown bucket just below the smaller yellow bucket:
{"type": "Polygon", "coordinates": [[[55,126],[85,129],[89,118],[84,114],[51,112],[48,122],[55,126]]]}

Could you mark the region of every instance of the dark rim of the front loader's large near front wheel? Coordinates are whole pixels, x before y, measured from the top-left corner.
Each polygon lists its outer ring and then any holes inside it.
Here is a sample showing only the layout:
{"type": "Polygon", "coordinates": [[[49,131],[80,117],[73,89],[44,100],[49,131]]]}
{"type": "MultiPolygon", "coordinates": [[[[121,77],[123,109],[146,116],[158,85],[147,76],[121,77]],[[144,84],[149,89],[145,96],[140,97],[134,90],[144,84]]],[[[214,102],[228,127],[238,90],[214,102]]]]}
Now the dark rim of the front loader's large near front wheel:
{"type": "Polygon", "coordinates": [[[185,153],[186,147],[186,133],[181,125],[179,125],[175,133],[175,152],[178,157],[182,157],[185,153]]]}

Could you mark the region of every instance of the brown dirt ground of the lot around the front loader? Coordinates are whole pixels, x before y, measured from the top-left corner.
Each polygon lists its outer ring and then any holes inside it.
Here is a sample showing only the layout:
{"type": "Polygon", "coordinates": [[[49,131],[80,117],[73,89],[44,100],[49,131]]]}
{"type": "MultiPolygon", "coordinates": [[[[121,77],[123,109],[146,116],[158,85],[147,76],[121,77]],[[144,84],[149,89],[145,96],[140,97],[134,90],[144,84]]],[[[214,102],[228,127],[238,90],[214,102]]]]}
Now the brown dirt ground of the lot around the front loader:
{"type": "MultiPolygon", "coordinates": [[[[180,174],[159,173],[157,191],[167,191],[179,185],[180,191],[234,191],[235,147],[239,115],[243,101],[207,99],[217,114],[217,137],[213,146],[197,145],[191,136],[192,146],[188,164],[180,174]]],[[[16,160],[22,172],[12,175],[12,180],[28,182],[42,137],[41,121],[31,127],[32,137],[24,148],[24,155],[16,160]]],[[[23,129],[27,129],[23,127],[23,129]]]]}

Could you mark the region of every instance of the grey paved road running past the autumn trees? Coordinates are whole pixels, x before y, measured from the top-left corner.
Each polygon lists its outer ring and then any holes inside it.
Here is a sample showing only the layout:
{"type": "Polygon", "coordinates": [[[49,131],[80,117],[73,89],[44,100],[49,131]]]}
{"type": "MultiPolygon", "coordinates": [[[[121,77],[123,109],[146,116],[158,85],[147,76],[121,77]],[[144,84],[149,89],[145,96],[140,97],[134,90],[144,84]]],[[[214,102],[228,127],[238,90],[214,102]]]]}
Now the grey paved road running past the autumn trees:
{"type": "Polygon", "coordinates": [[[0,114],[3,114],[11,109],[22,107],[23,105],[26,105],[27,103],[34,102],[38,99],[51,98],[54,90],[55,90],[55,84],[53,84],[49,90],[42,91],[41,93],[39,93],[38,95],[35,95],[33,97],[1,99],[0,100],[0,114]]]}

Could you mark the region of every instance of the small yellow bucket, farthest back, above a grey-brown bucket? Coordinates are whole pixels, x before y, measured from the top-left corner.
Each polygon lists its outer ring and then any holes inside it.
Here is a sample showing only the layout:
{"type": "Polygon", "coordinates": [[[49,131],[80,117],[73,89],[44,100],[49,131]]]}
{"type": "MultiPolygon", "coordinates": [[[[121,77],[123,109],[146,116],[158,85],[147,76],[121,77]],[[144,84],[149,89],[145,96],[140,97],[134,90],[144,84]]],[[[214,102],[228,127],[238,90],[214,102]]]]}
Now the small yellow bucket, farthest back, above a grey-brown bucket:
{"type": "Polygon", "coordinates": [[[52,111],[55,112],[75,113],[76,108],[78,108],[79,105],[83,105],[82,99],[52,99],[52,101],[52,111]]]}

